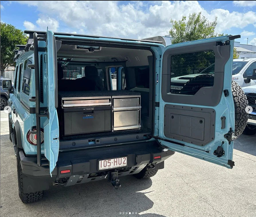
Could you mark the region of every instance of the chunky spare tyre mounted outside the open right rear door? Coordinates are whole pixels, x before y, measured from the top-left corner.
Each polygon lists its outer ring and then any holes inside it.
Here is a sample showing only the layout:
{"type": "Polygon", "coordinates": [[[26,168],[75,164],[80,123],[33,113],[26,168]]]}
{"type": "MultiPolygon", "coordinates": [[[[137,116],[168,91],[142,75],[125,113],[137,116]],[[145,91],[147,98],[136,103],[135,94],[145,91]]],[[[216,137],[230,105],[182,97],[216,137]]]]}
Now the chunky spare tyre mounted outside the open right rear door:
{"type": "Polygon", "coordinates": [[[235,130],[234,136],[237,138],[242,134],[248,120],[248,114],[245,107],[248,105],[247,97],[242,88],[232,80],[232,95],[235,107],[235,130]]]}

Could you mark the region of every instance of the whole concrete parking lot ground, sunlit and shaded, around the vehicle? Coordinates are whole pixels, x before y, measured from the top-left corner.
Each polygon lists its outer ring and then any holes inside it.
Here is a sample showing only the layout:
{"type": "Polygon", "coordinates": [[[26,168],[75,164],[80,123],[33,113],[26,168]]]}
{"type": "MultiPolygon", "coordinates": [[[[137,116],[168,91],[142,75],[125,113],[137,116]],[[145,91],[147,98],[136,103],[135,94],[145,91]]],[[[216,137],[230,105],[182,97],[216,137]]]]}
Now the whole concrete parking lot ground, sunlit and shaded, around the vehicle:
{"type": "Polygon", "coordinates": [[[23,204],[18,196],[8,116],[3,111],[0,116],[1,217],[256,216],[255,135],[235,140],[233,169],[175,153],[166,161],[165,169],[151,179],[121,177],[118,190],[105,180],[72,187],[51,186],[41,201],[23,204]]]}

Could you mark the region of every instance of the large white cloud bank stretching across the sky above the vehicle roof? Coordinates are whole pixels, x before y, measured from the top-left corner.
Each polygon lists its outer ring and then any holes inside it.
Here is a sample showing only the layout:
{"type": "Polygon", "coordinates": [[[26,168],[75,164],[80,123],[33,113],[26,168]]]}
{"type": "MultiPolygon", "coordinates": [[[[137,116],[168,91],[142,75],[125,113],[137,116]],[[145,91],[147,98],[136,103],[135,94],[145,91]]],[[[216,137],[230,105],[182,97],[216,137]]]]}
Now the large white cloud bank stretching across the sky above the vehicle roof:
{"type": "Polygon", "coordinates": [[[179,20],[193,12],[202,12],[210,21],[218,17],[216,31],[228,33],[230,28],[256,25],[255,11],[246,13],[213,9],[206,11],[198,1],[18,1],[35,6],[40,12],[36,24],[45,31],[77,32],[129,38],[167,35],[170,19],[179,20]],[[63,12],[65,11],[65,12],[63,12]],[[59,23],[62,25],[60,26],[59,23]],[[62,28],[65,26],[65,28],[62,28]]]}

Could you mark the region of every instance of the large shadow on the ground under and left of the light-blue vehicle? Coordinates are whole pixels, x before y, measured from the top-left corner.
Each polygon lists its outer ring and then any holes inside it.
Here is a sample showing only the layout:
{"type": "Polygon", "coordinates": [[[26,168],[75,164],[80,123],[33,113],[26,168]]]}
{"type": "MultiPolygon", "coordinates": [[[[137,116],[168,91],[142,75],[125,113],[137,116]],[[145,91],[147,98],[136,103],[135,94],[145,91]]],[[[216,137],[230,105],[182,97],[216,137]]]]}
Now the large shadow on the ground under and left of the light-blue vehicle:
{"type": "Polygon", "coordinates": [[[136,179],[128,175],[120,177],[120,183],[120,189],[115,189],[107,180],[70,187],[51,185],[50,189],[44,191],[42,200],[23,204],[18,196],[16,159],[9,134],[1,135],[0,208],[3,216],[165,217],[154,213],[139,214],[154,205],[146,196],[146,193],[154,193],[154,189],[149,189],[152,185],[151,179],[136,179]],[[13,176],[11,182],[10,176],[13,176]]]}

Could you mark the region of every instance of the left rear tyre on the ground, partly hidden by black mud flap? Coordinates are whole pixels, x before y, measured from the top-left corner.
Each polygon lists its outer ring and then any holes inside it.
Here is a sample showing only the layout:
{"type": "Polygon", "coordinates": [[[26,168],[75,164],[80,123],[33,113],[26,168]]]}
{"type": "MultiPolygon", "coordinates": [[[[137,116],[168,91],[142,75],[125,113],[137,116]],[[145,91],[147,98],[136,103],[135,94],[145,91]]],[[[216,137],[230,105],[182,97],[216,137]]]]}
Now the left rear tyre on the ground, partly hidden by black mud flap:
{"type": "Polygon", "coordinates": [[[17,148],[17,173],[18,173],[18,185],[19,185],[19,198],[24,204],[36,202],[43,197],[43,191],[36,191],[33,193],[23,193],[23,174],[20,165],[20,159],[17,148]]]}

